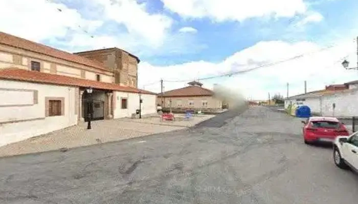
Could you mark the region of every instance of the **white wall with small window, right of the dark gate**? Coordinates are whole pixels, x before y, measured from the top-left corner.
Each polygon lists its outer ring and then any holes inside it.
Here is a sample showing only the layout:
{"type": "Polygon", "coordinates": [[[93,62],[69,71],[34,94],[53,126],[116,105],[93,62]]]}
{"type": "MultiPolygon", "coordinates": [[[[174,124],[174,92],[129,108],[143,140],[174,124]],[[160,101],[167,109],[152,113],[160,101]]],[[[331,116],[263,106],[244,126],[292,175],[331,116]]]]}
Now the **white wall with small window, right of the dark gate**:
{"type": "MultiPolygon", "coordinates": [[[[156,96],[142,94],[142,99],[142,115],[155,113],[156,96]]],[[[139,109],[138,93],[116,92],[114,101],[116,103],[114,110],[114,118],[130,117],[131,114],[136,113],[136,110],[139,109]],[[127,109],[121,109],[121,98],[127,98],[127,109]]]]}

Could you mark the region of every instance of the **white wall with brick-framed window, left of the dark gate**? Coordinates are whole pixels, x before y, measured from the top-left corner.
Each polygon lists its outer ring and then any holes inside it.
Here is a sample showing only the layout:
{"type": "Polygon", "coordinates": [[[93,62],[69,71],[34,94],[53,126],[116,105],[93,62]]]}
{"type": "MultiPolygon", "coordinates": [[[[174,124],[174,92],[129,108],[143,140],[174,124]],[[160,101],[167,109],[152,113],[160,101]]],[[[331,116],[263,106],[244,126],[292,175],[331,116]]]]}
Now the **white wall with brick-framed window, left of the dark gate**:
{"type": "MultiPolygon", "coordinates": [[[[37,90],[38,103],[30,106],[12,106],[13,99],[8,100],[10,107],[0,107],[0,146],[9,143],[25,140],[34,136],[46,134],[55,130],[60,130],[68,126],[77,124],[77,115],[75,115],[75,91],[74,87],[53,86],[26,82],[0,80],[1,89],[29,89],[37,90]],[[63,97],[64,115],[46,117],[45,97],[63,97]],[[36,120],[31,120],[36,119],[36,120]],[[24,122],[15,122],[18,120],[31,120],[24,122]],[[11,123],[8,123],[13,121],[11,123]]],[[[9,91],[8,96],[13,95],[14,91],[9,91]]],[[[16,92],[16,91],[15,91],[16,92]]],[[[2,97],[6,97],[6,92],[2,92],[2,97]]],[[[21,92],[17,93],[20,96],[21,92]]],[[[33,97],[23,94],[24,97],[33,97]]],[[[31,101],[32,98],[26,98],[31,101]]],[[[19,104],[25,98],[16,97],[19,104]]],[[[28,104],[28,103],[26,103],[28,104]]],[[[4,104],[2,104],[4,106],[4,104]]]]}

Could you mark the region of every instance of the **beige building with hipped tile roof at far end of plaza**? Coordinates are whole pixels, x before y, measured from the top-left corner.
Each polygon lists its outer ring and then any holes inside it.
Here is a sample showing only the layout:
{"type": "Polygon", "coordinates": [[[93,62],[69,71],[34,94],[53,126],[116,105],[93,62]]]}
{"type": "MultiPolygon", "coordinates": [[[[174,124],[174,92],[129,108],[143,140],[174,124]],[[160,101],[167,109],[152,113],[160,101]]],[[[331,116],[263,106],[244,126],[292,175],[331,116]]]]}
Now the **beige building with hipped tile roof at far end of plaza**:
{"type": "Polygon", "coordinates": [[[199,82],[190,82],[189,86],[158,94],[158,104],[163,110],[184,112],[187,110],[202,112],[222,111],[221,100],[215,98],[212,90],[203,88],[199,82]]]}

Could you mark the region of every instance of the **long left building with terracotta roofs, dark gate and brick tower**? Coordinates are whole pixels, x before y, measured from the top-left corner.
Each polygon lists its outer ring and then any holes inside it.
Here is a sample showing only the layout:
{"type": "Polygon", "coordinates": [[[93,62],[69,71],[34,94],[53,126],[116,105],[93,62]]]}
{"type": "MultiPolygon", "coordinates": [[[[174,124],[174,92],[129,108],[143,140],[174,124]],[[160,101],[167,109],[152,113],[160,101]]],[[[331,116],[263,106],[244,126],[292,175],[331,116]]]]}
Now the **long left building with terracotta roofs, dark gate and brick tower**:
{"type": "Polygon", "coordinates": [[[116,54],[113,64],[92,60],[89,54],[98,50],[85,52],[88,59],[79,56],[83,53],[66,53],[0,32],[0,146],[89,117],[129,117],[139,109],[140,97],[142,114],[155,113],[156,95],[136,88],[139,59],[118,48],[108,50],[124,54],[116,54]],[[87,87],[93,93],[87,93],[87,87]]]}

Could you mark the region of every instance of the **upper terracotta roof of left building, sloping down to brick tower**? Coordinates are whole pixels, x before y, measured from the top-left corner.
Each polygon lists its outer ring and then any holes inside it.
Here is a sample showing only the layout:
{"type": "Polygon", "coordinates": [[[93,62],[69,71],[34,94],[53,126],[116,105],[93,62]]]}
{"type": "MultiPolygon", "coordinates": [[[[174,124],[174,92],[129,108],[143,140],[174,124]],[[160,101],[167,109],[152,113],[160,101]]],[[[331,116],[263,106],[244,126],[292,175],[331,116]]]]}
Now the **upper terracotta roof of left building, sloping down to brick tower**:
{"type": "Polygon", "coordinates": [[[5,44],[20,49],[26,49],[34,53],[39,53],[42,55],[47,55],[62,60],[83,64],[89,67],[94,67],[97,69],[109,71],[109,69],[105,67],[103,64],[101,64],[100,62],[89,60],[85,57],[67,53],[59,49],[55,49],[43,44],[32,42],[30,40],[19,38],[3,32],[0,32],[0,44],[5,44]]]}

